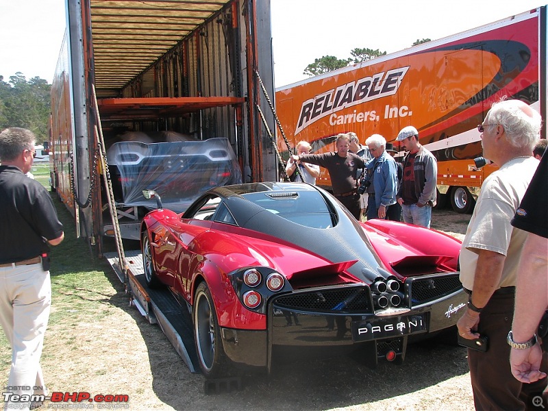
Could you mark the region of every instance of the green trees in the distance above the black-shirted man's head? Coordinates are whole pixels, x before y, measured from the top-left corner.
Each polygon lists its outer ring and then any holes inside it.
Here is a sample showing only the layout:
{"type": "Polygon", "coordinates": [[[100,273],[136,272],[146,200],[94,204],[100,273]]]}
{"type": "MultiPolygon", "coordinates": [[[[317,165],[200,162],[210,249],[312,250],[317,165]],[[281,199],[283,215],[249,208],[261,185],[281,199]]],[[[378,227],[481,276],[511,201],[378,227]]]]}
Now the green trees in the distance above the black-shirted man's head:
{"type": "Polygon", "coordinates": [[[5,82],[0,75],[0,130],[23,127],[36,134],[36,142],[49,140],[50,90],[40,77],[27,80],[18,72],[5,82]]]}

